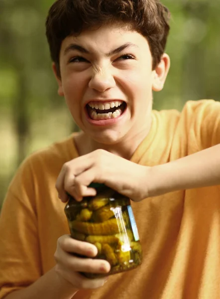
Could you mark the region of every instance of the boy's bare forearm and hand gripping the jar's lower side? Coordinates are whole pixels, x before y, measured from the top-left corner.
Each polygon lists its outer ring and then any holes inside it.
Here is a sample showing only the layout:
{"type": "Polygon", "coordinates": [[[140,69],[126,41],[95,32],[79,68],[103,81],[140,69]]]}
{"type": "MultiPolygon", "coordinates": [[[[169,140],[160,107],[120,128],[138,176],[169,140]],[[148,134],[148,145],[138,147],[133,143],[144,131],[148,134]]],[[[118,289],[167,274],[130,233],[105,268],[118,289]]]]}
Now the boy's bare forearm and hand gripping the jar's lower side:
{"type": "Polygon", "coordinates": [[[100,288],[108,277],[88,279],[79,274],[107,274],[110,271],[107,261],[91,259],[96,255],[95,245],[64,235],[57,242],[56,266],[29,287],[11,293],[5,299],[72,299],[80,289],[100,288]],[[79,258],[75,254],[88,258],[79,258]]]}

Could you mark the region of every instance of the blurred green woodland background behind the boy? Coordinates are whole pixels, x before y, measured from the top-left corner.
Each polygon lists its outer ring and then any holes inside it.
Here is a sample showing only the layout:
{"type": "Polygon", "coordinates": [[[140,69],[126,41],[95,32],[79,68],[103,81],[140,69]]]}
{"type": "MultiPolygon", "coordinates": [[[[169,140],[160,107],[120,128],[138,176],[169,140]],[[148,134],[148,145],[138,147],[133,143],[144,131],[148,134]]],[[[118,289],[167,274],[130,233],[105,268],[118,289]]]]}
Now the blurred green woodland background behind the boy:
{"type": "MultiPolygon", "coordinates": [[[[20,162],[77,130],[57,95],[45,38],[54,0],[0,0],[0,205],[20,162]]],[[[220,1],[163,0],[172,13],[171,70],[154,109],[220,101],[220,1]]]]}

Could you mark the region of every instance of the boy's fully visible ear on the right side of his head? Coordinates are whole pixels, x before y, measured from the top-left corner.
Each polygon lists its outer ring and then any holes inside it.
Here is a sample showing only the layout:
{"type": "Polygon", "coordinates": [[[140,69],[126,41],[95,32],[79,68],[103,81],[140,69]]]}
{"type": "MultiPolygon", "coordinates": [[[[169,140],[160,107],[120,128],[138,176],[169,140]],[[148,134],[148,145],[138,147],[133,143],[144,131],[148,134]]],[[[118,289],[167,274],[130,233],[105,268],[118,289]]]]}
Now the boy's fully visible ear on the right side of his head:
{"type": "Polygon", "coordinates": [[[153,91],[161,91],[167,78],[167,74],[170,69],[170,57],[167,54],[163,54],[160,63],[153,71],[153,91]]]}

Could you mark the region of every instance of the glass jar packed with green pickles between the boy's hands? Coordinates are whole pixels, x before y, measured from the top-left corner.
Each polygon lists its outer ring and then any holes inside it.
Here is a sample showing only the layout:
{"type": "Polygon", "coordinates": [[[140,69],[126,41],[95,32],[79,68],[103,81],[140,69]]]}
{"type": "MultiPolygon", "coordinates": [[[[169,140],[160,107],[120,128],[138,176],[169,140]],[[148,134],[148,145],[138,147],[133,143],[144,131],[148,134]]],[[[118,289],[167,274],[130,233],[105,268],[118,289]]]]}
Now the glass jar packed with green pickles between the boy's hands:
{"type": "Polygon", "coordinates": [[[130,199],[103,184],[92,183],[97,195],[81,202],[69,196],[64,209],[71,237],[94,244],[96,259],[110,263],[108,274],[82,273],[87,278],[100,278],[136,268],[142,251],[130,206],[130,199]]]}

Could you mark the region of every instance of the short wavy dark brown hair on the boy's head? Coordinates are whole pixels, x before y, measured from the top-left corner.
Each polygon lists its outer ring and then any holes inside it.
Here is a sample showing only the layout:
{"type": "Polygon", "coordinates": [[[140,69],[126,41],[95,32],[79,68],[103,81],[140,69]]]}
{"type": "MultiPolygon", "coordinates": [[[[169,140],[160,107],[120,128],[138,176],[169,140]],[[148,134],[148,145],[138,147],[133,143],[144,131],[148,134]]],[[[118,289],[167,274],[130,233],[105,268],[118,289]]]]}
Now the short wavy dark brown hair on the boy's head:
{"type": "Polygon", "coordinates": [[[47,16],[46,36],[58,75],[61,43],[67,36],[114,22],[147,38],[154,69],[165,50],[169,18],[169,10],[159,0],[56,0],[47,16]]]}

